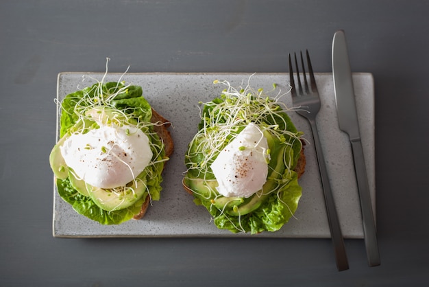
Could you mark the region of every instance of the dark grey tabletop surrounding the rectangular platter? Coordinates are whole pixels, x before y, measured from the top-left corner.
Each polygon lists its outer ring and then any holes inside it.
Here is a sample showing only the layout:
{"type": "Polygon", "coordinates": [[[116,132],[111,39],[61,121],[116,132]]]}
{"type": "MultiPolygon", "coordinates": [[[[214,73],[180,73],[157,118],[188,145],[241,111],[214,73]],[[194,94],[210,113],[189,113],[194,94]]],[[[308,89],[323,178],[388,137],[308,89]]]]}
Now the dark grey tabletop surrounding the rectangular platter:
{"type": "Polygon", "coordinates": [[[1,286],[428,286],[428,1],[1,1],[1,286]],[[304,17],[309,17],[305,20],[304,17]],[[309,49],[330,72],[344,29],[352,71],[373,73],[382,264],[345,240],[53,238],[57,74],[286,72],[309,49]]]}

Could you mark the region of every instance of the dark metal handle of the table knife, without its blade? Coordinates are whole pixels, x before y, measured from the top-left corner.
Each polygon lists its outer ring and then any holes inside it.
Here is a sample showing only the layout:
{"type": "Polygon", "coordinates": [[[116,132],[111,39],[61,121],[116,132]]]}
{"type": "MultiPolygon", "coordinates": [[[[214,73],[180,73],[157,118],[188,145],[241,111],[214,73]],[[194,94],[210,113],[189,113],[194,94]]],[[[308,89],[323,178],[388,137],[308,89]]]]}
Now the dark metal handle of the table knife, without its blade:
{"type": "Polygon", "coordinates": [[[374,221],[371,196],[369,194],[369,185],[367,179],[367,170],[365,168],[365,159],[363,158],[363,149],[360,139],[351,140],[354,169],[356,180],[358,182],[360,210],[362,212],[363,233],[365,238],[365,248],[367,249],[367,258],[369,266],[380,265],[380,254],[378,252],[378,243],[376,236],[376,223],[374,221]]]}

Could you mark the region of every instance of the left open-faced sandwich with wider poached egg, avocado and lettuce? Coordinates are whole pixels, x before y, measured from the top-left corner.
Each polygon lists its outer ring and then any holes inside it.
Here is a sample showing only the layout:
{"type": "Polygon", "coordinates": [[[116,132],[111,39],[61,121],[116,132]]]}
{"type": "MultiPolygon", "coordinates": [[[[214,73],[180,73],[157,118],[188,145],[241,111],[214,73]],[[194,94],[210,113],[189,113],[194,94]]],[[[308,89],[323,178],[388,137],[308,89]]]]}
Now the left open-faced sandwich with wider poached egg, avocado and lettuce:
{"type": "Polygon", "coordinates": [[[103,225],[143,218],[160,199],[173,152],[170,123],[142,94],[142,87],[101,80],[59,103],[60,135],[49,156],[58,193],[103,225]]]}

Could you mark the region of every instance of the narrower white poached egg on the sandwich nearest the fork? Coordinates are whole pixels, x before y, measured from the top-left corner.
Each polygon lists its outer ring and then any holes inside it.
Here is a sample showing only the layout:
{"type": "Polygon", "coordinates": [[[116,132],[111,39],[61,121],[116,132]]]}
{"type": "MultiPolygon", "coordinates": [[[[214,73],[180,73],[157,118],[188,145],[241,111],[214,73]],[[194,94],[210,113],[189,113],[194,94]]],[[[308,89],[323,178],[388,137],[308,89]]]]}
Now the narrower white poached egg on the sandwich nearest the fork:
{"type": "Polygon", "coordinates": [[[219,194],[248,198],[261,190],[268,175],[267,150],[262,130],[256,124],[248,124],[211,165],[219,194]]]}

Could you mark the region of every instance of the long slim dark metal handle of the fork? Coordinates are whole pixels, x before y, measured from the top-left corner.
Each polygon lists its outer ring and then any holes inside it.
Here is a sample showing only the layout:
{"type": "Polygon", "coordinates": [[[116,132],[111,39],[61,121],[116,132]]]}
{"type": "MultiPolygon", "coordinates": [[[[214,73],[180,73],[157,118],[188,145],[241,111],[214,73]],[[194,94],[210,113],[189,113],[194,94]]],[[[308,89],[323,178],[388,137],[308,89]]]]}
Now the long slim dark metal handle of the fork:
{"type": "Polygon", "coordinates": [[[323,150],[321,148],[319,133],[317,132],[316,121],[315,119],[311,119],[308,122],[310,122],[313,139],[315,141],[317,163],[319,164],[321,184],[323,187],[323,196],[325,197],[329,228],[331,232],[332,243],[334,244],[336,267],[339,271],[344,271],[349,268],[349,263],[347,261],[347,255],[345,253],[343,234],[341,233],[339,218],[336,214],[336,207],[329,182],[328,170],[326,168],[326,163],[324,160],[325,158],[323,157],[323,150]]]}

